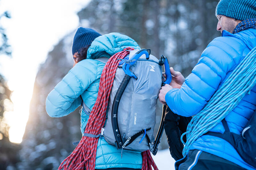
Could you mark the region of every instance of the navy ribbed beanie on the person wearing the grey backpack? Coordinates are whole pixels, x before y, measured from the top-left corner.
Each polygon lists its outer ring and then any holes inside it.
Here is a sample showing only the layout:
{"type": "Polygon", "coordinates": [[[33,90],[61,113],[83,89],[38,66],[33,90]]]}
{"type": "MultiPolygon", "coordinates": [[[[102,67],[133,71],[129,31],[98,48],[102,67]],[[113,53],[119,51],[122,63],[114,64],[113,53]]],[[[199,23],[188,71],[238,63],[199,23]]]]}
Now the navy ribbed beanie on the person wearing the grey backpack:
{"type": "Polygon", "coordinates": [[[78,28],[73,40],[72,54],[79,53],[81,48],[91,45],[92,41],[99,36],[101,34],[91,28],[78,28]]]}

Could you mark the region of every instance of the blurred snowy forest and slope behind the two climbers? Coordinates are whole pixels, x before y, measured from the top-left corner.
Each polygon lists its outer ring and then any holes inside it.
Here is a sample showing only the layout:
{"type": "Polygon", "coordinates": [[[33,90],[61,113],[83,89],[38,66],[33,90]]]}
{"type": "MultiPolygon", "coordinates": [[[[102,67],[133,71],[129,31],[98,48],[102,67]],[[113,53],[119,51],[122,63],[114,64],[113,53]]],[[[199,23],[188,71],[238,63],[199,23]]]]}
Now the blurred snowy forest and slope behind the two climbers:
{"type": "MultiPolygon", "coordinates": [[[[187,76],[208,43],[220,36],[216,31],[217,3],[218,0],[92,0],[77,15],[80,26],[93,28],[101,34],[126,34],[141,48],[150,48],[156,57],[166,56],[170,66],[187,76]]],[[[8,13],[1,16],[10,17],[8,13]]],[[[74,150],[72,142],[80,140],[79,108],[61,118],[51,118],[45,111],[48,93],[72,67],[71,46],[75,31],[55,45],[38,70],[21,144],[13,144],[8,139],[8,125],[3,114],[8,109],[4,100],[10,100],[11,91],[0,74],[0,169],[57,169],[74,150]]],[[[3,40],[0,53],[11,55],[2,27],[0,33],[3,40]]],[[[157,110],[159,125],[160,103],[157,110]]],[[[166,148],[168,144],[163,134],[159,149],[166,148]]]]}

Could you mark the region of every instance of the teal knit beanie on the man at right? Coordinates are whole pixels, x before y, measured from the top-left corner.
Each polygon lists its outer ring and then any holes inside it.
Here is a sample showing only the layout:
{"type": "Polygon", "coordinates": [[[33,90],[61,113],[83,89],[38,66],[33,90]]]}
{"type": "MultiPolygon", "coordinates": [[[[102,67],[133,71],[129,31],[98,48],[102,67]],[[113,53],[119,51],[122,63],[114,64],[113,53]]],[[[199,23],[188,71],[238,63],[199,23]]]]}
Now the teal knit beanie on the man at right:
{"type": "Polygon", "coordinates": [[[256,18],[256,0],[220,0],[216,7],[216,16],[245,20],[256,18]]]}

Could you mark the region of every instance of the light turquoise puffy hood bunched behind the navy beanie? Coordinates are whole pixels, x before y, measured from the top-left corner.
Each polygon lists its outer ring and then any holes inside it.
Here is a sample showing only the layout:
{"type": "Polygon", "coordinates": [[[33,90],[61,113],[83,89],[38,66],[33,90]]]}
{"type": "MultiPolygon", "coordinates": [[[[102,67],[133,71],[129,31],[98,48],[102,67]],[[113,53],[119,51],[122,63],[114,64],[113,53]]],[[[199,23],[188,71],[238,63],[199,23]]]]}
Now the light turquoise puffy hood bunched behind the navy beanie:
{"type": "Polygon", "coordinates": [[[97,59],[100,57],[110,58],[115,53],[122,51],[126,47],[140,49],[140,46],[132,38],[117,32],[112,32],[97,37],[92,41],[87,51],[87,59],[97,59]]]}

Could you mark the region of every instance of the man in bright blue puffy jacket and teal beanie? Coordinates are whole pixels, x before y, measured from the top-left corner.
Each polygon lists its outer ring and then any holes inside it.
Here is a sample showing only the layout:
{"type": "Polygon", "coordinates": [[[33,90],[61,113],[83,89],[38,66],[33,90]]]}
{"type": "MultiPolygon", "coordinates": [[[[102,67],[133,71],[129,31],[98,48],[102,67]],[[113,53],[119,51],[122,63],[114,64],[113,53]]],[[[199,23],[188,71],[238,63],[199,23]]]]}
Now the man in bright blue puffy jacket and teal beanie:
{"type": "MultiPolygon", "coordinates": [[[[186,79],[171,68],[172,82],[160,90],[159,100],[167,103],[178,115],[190,117],[199,113],[256,46],[255,0],[220,0],[216,16],[221,37],[210,42],[186,79]]],[[[255,110],[256,87],[225,117],[229,130],[241,135],[255,110]]],[[[220,122],[210,131],[223,133],[223,124],[220,122]]],[[[255,169],[240,157],[230,143],[211,135],[199,137],[188,154],[176,161],[175,168],[255,169]]]]}

